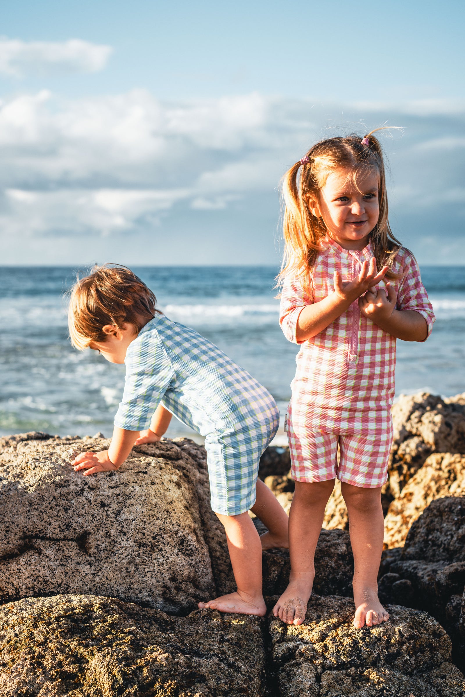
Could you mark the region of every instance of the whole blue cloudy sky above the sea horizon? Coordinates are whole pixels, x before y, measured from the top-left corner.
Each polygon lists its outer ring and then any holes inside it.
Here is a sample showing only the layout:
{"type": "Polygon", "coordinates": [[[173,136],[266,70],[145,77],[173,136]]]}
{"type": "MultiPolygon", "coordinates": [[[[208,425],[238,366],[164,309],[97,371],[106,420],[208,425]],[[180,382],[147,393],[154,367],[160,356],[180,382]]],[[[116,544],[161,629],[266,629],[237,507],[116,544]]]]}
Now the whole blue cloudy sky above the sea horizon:
{"type": "Polygon", "coordinates": [[[277,264],[279,182],[381,140],[390,222],[465,264],[455,1],[0,5],[0,264],[277,264]]]}

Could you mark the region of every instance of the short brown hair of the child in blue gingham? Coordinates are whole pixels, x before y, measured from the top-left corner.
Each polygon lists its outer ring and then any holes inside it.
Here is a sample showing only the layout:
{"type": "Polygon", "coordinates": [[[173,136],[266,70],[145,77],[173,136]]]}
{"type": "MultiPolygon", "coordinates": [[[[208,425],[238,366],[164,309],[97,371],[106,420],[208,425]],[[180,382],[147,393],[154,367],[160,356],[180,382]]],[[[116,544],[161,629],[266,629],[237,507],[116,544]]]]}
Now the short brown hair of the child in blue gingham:
{"type": "Polygon", "coordinates": [[[139,332],[155,316],[156,298],[125,266],[94,266],[77,279],[70,293],[68,329],[71,344],[82,351],[91,342],[105,342],[106,324],[119,329],[132,324],[139,332]]]}

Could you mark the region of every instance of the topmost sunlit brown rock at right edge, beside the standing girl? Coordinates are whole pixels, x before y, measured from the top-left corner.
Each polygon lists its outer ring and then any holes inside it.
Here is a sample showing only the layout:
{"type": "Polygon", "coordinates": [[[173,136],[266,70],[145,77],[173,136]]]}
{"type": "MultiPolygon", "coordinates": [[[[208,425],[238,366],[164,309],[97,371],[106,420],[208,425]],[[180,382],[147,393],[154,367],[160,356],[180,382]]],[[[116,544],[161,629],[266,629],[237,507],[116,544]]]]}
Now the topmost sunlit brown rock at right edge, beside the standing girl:
{"type": "Polygon", "coordinates": [[[394,443],[383,497],[399,496],[433,452],[465,454],[465,404],[462,396],[442,399],[420,392],[402,395],[392,406],[394,443]]]}

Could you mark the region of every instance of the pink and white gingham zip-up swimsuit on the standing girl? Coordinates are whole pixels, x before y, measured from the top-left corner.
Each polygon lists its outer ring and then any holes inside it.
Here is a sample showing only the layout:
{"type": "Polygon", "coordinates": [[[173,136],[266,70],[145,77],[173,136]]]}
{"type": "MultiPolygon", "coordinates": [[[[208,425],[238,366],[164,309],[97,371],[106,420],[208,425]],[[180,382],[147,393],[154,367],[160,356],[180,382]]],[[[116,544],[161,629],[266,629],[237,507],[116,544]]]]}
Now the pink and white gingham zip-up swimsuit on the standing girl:
{"type": "MultiPolygon", "coordinates": [[[[335,271],[348,281],[372,256],[370,243],[360,252],[323,238],[311,291],[303,289],[298,275],[285,279],[280,325],[287,339],[299,343],[298,316],[306,305],[333,293],[335,271]]],[[[401,275],[390,281],[397,309],[425,317],[429,336],[435,317],[413,254],[402,247],[392,271],[401,275]]],[[[381,281],[376,288],[385,285],[381,281]]],[[[293,479],[324,482],[337,477],[356,487],[381,487],[388,479],[392,445],[395,337],[361,314],[354,300],[326,329],[300,344],[285,424],[293,479]]]]}

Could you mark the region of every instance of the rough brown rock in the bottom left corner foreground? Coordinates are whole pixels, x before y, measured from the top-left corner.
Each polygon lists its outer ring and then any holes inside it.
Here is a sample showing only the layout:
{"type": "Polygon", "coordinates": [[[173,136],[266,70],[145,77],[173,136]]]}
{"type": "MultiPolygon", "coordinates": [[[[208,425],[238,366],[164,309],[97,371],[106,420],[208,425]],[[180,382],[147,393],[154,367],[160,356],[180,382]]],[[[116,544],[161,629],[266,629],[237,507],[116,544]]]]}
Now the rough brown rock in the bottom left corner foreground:
{"type": "Polygon", "coordinates": [[[95,595],[0,607],[2,697],[264,696],[261,620],[95,595]]]}

